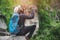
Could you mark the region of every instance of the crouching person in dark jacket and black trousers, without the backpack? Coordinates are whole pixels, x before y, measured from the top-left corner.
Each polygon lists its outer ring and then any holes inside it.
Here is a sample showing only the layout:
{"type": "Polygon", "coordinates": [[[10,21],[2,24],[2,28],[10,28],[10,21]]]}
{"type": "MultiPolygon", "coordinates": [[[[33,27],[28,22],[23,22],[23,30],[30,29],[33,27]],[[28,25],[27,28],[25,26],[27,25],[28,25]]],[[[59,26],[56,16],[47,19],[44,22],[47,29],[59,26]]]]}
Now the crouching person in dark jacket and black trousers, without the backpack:
{"type": "Polygon", "coordinates": [[[20,10],[19,15],[20,15],[19,16],[20,19],[19,19],[18,25],[19,25],[19,27],[22,27],[22,28],[20,29],[20,32],[17,33],[16,35],[19,36],[19,35],[25,35],[25,34],[29,33],[29,35],[25,37],[26,40],[29,40],[31,38],[35,28],[36,28],[36,25],[26,27],[25,20],[34,18],[34,10],[31,8],[31,11],[28,12],[25,10],[25,8],[22,8],[22,10],[20,10]],[[30,13],[30,14],[27,15],[26,13],[30,13]]]}

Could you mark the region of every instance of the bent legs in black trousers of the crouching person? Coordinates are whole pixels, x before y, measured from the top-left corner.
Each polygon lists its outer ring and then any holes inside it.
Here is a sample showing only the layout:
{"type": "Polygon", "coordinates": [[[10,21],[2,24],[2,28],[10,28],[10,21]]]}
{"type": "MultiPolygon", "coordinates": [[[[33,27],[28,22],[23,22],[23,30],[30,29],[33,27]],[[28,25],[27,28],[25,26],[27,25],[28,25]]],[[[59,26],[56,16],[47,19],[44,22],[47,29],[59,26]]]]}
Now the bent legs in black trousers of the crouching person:
{"type": "Polygon", "coordinates": [[[27,36],[29,39],[31,38],[32,34],[34,33],[34,30],[36,28],[36,25],[32,25],[32,26],[28,26],[28,27],[24,27],[21,32],[19,32],[17,35],[21,36],[21,35],[25,35],[27,33],[29,33],[29,35],[27,36]]]}

